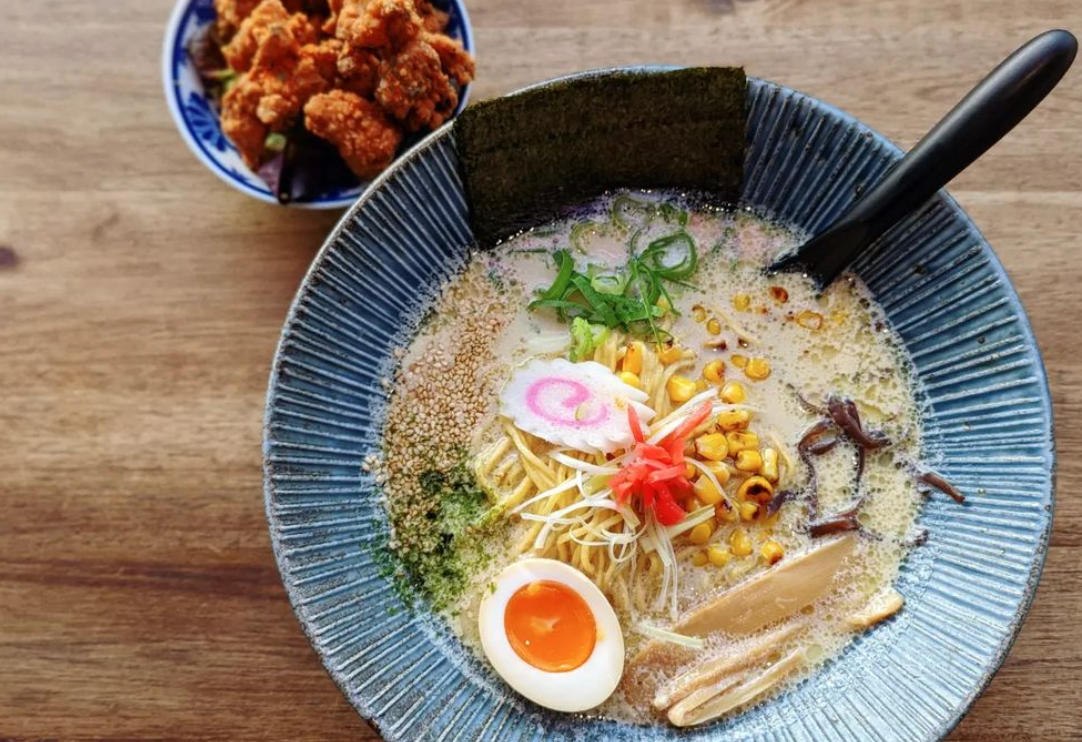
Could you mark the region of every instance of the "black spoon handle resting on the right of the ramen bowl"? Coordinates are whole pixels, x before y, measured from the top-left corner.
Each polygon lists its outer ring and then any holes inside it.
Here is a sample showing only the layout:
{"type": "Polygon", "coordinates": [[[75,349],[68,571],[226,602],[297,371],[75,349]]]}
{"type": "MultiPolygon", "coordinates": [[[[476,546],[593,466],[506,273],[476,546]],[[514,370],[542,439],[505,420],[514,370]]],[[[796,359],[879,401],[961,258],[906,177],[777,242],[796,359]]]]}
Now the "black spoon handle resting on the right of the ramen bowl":
{"type": "Polygon", "coordinates": [[[1077,51],[1078,40],[1058,29],[1019,47],[848,212],[770,269],[799,267],[826,287],[860,251],[1026,118],[1070,68],[1077,51]]]}

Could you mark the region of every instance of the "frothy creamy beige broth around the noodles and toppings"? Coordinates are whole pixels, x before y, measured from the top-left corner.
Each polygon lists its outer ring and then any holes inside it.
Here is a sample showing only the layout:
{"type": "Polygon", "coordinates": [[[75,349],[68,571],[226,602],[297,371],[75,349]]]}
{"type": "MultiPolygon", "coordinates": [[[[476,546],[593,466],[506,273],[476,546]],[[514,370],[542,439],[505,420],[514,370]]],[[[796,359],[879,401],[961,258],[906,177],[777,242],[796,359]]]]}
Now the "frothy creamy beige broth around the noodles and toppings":
{"type": "MultiPolygon", "coordinates": [[[[423,472],[475,467],[500,446],[504,424],[498,398],[514,370],[533,358],[567,357],[567,322],[551,309],[531,310],[528,305],[553,282],[552,253],[558,248],[577,246],[571,254],[581,270],[590,264],[610,270],[623,265],[626,233],[607,234],[604,227],[589,226],[591,221],[603,223],[611,203],[603,199],[586,216],[556,222],[472,255],[404,348],[380,464],[396,531],[393,546],[424,547],[419,546],[423,538],[403,538],[417,527],[410,517],[419,501],[431,494],[420,482],[423,472]]],[[[687,281],[694,287],[670,287],[679,315],[670,314],[663,320],[669,340],[694,356],[679,361],[679,374],[700,380],[707,363],[723,361],[725,379],[742,384],[747,406],[754,410],[752,428],[760,446],[779,454],[783,475],[777,490],[800,491],[809,485],[797,441],[821,415],[810,411],[802,397],[816,405],[827,395],[849,398],[865,426],[883,430],[892,440],[889,447],[868,453],[859,488],[855,446],[840,440],[815,459],[819,514],[844,511],[862,493],[861,531],[853,556],[827,594],[789,620],[800,623],[800,632],[782,639],[760,663],[765,667],[799,648],[803,661],[799,672],[789,675],[791,681],[853,640],[856,633],[848,618],[887,594],[913,542],[920,500],[911,468],[921,450],[916,393],[899,339],[859,279],[847,276],[817,295],[801,276],[764,275],[762,267],[799,243],[801,235],[748,211],[707,208],[690,209],[685,228],[698,246],[698,267],[687,281]],[[740,357],[765,361],[769,375],[748,379],[741,372],[740,357]]],[[[677,407],[670,400],[659,406],[659,413],[677,407]]],[[[735,474],[737,480],[742,476],[735,474]]],[[[502,496],[499,491],[488,494],[497,500],[502,496]]],[[[686,533],[675,538],[677,612],[773,569],[763,555],[768,541],[780,546],[786,556],[778,564],[783,565],[791,555],[826,540],[814,539],[807,526],[808,512],[796,501],[781,507],[769,525],[744,525],[739,517],[724,521],[718,516],[705,544],[689,543],[686,533]],[[702,561],[697,554],[707,547],[726,548],[736,529],[749,535],[750,555],[728,557],[723,566],[697,564],[702,561]]],[[[484,543],[483,548],[463,546],[456,553],[461,564],[456,564],[454,584],[437,605],[463,642],[478,652],[478,605],[494,575],[524,553],[515,551],[514,544],[531,524],[504,514],[492,528],[489,535],[474,539],[484,543]]],[[[650,584],[644,589],[651,589],[650,584]]],[[[619,614],[629,660],[649,642],[637,625],[663,627],[673,620],[670,610],[650,605],[649,596],[636,605],[634,588],[624,591],[625,595],[617,595],[619,591],[611,586],[603,586],[603,592],[619,614]]],[[[704,646],[695,652],[673,650],[662,652],[659,662],[631,662],[621,688],[595,713],[635,723],[660,721],[663,717],[649,703],[652,690],[682,667],[739,654],[754,639],[754,635],[715,634],[705,637],[704,646]]]]}

